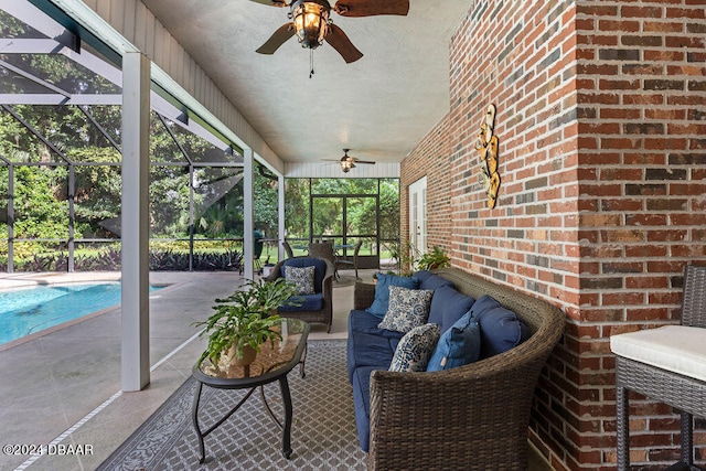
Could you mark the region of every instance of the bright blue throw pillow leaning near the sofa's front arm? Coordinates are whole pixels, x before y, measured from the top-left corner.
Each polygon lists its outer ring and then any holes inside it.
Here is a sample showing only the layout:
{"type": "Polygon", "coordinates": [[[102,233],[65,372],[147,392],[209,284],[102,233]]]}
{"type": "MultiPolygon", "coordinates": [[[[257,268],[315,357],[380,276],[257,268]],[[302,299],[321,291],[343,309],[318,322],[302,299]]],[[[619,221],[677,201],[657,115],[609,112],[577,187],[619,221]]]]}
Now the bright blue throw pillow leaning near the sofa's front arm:
{"type": "Polygon", "coordinates": [[[429,364],[428,372],[454,368],[478,361],[481,353],[481,329],[471,318],[471,311],[461,317],[439,339],[429,364]]]}

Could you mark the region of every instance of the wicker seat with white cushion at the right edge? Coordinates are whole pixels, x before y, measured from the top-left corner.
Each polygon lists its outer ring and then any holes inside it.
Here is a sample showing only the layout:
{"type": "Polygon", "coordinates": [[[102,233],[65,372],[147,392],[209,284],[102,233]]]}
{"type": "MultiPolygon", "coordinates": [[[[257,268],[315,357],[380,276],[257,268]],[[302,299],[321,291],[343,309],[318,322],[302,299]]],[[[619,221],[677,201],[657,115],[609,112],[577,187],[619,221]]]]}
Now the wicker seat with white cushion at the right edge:
{"type": "MultiPolygon", "coordinates": [[[[706,329],[706,267],[685,267],[683,291],[682,327],[706,329]]],[[[629,390],[668,404],[681,411],[681,461],[670,469],[696,469],[693,468],[693,416],[706,417],[706,376],[703,371],[700,378],[694,377],[693,372],[672,371],[674,362],[668,358],[674,355],[678,358],[676,363],[683,363],[684,353],[681,349],[688,349],[692,356],[693,352],[700,351],[703,354],[700,349],[706,342],[706,330],[700,334],[700,329],[667,327],[611,336],[611,349],[616,353],[618,470],[630,469],[629,390]],[[653,355],[642,352],[656,353],[659,362],[654,361],[653,355]]],[[[704,361],[706,356],[700,357],[699,364],[704,361]]],[[[683,368],[683,364],[680,367],[683,368]]]]}

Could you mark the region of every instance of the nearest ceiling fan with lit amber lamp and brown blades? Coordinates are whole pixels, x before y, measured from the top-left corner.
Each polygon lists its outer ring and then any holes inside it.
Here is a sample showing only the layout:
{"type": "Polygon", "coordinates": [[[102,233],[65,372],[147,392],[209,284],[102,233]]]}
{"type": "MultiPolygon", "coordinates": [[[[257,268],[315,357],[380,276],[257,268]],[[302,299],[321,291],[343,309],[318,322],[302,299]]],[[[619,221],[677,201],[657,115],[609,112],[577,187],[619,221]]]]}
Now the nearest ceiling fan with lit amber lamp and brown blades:
{"type": "MultiPolygon", "coordinates": [[[[280,26],[257,52],[274,54],[287,40],[297,34],[302,47],[314,50],[323,41],[341,54],[346,63],[363,57],[343,30],[330,19],[331,4],[328,0],[252,0],[271,7],[289,7],[289,23],[280,26]]],[[[378,14],[405,17],[409,11],[409,0],[339,0],[333,11],[342,17],[360,18],[378,14]]]]}

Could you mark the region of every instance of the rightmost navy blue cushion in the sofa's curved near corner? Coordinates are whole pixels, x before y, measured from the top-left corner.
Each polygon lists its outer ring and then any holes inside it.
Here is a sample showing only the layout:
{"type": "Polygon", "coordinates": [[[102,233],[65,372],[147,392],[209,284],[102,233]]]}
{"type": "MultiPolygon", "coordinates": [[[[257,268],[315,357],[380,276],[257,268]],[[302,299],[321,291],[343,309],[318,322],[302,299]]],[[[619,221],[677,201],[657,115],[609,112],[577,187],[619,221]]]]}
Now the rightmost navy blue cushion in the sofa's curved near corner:
{"type": "Polygon", "coordinates": [[[510,309],[493,297],[481,296],[471,308],[471,317],[481,328],[481,358],[509,351],[527,340],[531,331],[510,309]]]}

